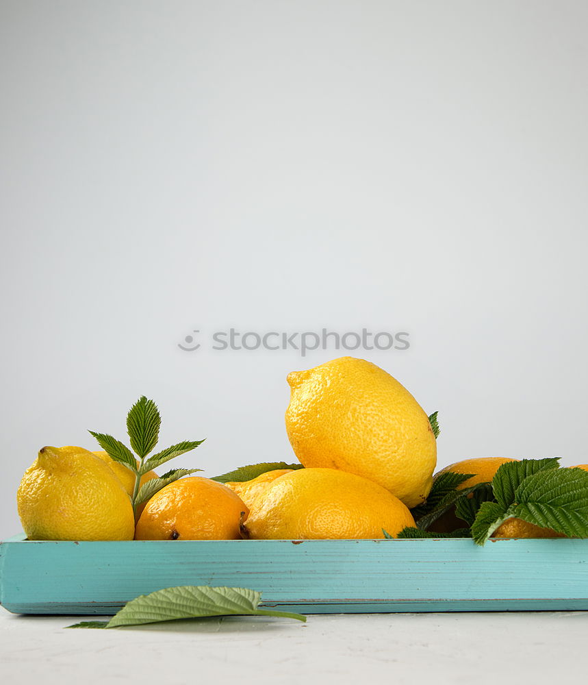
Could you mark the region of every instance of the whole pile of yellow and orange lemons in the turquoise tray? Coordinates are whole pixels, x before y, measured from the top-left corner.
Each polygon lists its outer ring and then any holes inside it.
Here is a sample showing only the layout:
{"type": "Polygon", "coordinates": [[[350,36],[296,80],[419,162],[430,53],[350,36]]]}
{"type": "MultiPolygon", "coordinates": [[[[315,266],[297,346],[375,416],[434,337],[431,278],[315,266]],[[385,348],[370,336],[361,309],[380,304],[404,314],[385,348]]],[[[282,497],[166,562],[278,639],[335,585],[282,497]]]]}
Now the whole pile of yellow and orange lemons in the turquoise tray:
{"type": "MultiPolygon", "coordinates": [[[[290,373],[287,381],[287,435],[304,468],[227,484],[185,477],[159,490],[136,518],[129,469],[105,452],[44,447],[18,488],[27,537],[383,538],[383,530],[395,537],[415,525],[410,508],[429,495],[437,443],[409,391],[378,366],[350,357],[290,373]]],[[[504,461],[468,460],[451,468],[491,480],[504,461]]]]}

